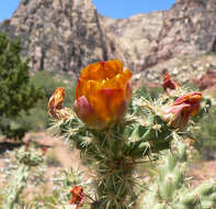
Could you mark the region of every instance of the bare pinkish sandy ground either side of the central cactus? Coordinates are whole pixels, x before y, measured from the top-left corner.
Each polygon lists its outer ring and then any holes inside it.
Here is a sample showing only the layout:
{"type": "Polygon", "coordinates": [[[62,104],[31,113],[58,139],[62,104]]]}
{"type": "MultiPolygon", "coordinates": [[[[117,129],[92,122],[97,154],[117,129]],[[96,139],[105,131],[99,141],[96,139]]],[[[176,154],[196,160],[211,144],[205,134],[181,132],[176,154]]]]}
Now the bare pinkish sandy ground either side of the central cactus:
{"type": "MultiPolygon", "coordinates": [[[[25,139],[32,138],[27,134],[25,139]]],[[[88,176],[88,168],[81,164],[79,151],[69,150],[69,143],[65,142],[62,139],[53,138],[46,132],[41,132],[33,135],[33,139],[38,141],[39,144],[50,146],[47,152],[54,152],[57,160],[60,162],[62,168],[72,167],[75,170],[79,169],[86,172],[88,176]]],[[[53,175],[53,173],[58,169],[56,167],[49,167],[47,176],[53,175]]],[[[192,177],[192,185],[196,186],[208,179],[216,180],[216,160],[208,162],[198,162],[190,166],[187,176],[192,177]]]]}

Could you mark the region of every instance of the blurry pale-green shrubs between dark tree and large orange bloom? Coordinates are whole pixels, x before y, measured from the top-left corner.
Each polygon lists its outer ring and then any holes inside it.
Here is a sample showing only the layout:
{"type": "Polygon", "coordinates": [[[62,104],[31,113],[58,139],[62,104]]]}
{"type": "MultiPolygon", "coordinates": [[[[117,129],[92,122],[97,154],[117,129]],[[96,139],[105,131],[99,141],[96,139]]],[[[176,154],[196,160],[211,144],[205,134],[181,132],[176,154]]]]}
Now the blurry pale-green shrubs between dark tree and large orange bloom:
{"type": "Polygon", "coordinates": [[[61,77],[62,78],[59,81],[54,74],[45,70],[36,72],[31,77],[30,82],[41,89],[45,97],[38,100],[29,113],[22,112],[22,120],[29,123],[30,130],[38,131],[47,129],[49,121],[49,117],[47,114],[48,98],[58,86],[66,89],[65,103],[70,107],[72,106],[73,98],[71,96],[75,95],[75,82],[69,82],[65,75],[61,77]]]}

